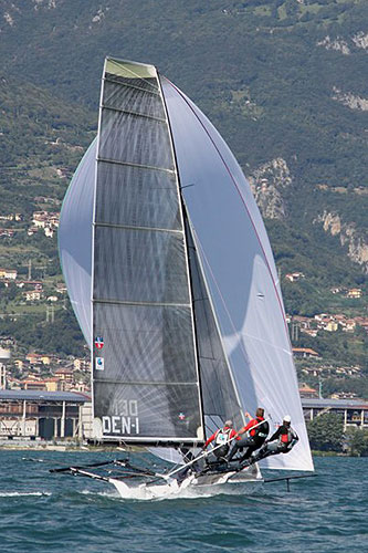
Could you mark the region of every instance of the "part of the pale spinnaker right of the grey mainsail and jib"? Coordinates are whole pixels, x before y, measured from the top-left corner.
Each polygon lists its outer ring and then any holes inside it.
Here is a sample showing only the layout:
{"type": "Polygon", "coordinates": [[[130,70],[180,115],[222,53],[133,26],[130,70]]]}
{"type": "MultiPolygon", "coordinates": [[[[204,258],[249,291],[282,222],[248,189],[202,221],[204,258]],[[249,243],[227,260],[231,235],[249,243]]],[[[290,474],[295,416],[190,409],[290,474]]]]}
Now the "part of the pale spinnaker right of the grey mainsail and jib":
{"type": "Polygon", "coordinates": [[[313,470],[277,271],[251,188],[209,119],[168,80],[162,91],[182,182],[242,407],[276,424],[292,417],[299,445],[265,461],[313,470]],[[192,186],[186,186],[192,184],[192,186]]]}

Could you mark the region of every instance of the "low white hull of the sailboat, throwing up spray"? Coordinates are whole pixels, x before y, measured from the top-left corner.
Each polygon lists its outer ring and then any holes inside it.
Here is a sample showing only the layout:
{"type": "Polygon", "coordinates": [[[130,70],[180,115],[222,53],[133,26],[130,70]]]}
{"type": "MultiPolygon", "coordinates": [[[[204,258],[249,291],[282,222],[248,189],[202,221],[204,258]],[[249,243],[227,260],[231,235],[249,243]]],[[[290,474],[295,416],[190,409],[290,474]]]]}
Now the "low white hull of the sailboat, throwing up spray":
{"type": "Polygon", "coordinates": [[[162,499],[168,497],[196,497],[213,494],[248,495],[257,490],[262,483],[261,476],[246,472],[227,472],[222,474],[203,474],[199,478],[191,474],[180,484],[171,479],[165,484],[128,486],[122,480],[109,479],[123,499],[162,499]]]}

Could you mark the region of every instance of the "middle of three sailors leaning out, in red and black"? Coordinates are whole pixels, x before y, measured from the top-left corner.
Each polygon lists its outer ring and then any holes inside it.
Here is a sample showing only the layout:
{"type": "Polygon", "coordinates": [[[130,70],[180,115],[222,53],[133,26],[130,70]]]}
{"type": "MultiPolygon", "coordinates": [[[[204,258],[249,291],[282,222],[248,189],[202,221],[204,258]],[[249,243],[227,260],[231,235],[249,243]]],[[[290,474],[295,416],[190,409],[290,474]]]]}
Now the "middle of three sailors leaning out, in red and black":
{"type": "MultiPolygon", "coordinates": [[[[245,413],[245,417],[251,418],[249,413],[245,413]]],[[[244,461],[248,459],[253,451],[259,449],[266,437],[269,436],[269,422],[264,420],[264,409],[259,407],[255,411],[255,418],[251,418],[246,426],[239,430],[238,435],[248,432],[249,436],[243,436],[238,441],[234,441],[233,447],[228,457],[228,462],[238,453],[242,448],[246,448],[244,455],[239,459],[244,461]],[[255,428],[253,428],[255,427],[255,428]]]]}

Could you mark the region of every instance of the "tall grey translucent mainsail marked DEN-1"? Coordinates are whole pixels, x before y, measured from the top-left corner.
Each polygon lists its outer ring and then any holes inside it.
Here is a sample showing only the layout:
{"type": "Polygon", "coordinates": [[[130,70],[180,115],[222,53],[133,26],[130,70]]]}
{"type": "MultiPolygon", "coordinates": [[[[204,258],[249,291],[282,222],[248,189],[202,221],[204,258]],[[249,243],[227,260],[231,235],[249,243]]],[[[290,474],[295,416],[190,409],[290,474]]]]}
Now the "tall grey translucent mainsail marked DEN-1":
{"type": "Polygon", "coordinates": [[[112,59],[97,147],[93,335],[103,439],[202,440],[186,236],[159,81],[153,66],[112,59]]]}

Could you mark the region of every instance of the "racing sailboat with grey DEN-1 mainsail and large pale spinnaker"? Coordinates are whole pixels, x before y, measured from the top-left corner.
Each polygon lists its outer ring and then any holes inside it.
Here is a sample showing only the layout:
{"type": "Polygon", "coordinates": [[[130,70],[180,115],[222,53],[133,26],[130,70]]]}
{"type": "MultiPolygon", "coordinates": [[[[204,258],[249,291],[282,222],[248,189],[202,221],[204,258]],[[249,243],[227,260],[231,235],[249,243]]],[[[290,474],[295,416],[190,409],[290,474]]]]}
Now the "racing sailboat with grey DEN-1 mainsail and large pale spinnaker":
{"type": "MultiPolygon", "coordinates": [[[[313,470],[277,271],[252,191],[213,125],[154,65],[106,58],[98,134],[65,196],[59,247],[92,353],[95,441],[186,463],[227,419],[241,428],[244,411],[262,406],[271,427],[287,413],[299,436],[263,465],[313,470]]],[[[162,474],[127,459],[114,466],[123,473],[67,470],[107,480],[123,497],[135,492],[134,476],[158,478],[139,484],[151,495],[262,481],[257,465],[188,471],[179,483],[176,467],[162,474]]]]}

